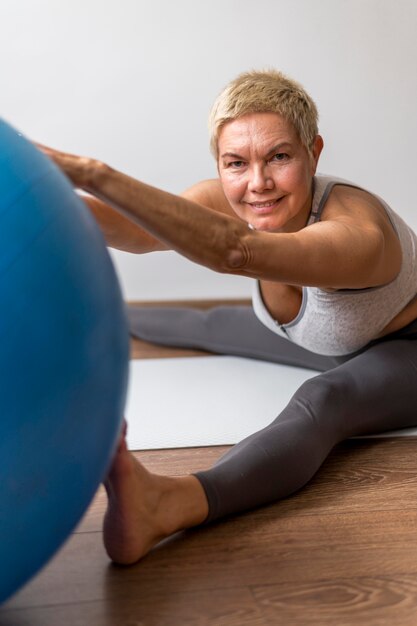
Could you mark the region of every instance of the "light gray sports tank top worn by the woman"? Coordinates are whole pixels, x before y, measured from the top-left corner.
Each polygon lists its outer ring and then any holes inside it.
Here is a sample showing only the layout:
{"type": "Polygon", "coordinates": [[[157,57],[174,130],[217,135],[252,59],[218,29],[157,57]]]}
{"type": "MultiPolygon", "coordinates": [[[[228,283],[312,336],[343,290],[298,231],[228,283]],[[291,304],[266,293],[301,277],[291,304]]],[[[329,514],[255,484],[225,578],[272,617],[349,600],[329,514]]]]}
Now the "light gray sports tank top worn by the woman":
{"type": "MultiPolygon", "coordinates": [[[[316,176],[308,224],[320,220],[327,198],[337,184],[361,189],[341,178],[316,176]]],[[[374,197],[386,210],[401,244],[403,259],[398,276],[387,285],[367,289],[329,292],[318,287],[303,287],[300,311],[288,324],[279,324],[271,316],[256,281],[252,303],[256,316],[265,326],[318,354],[350,354],[375,339],[414,298],[417,293],[417,237],[381,198],[374,197]]]]}

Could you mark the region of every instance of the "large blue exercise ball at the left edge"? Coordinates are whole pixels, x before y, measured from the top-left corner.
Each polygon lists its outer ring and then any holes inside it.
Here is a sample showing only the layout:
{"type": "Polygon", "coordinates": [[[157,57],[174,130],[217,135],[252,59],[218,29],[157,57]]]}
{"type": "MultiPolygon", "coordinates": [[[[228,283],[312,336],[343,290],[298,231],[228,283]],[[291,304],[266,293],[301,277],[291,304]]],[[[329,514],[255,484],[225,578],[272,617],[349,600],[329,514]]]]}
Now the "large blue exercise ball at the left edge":
{"type": "Polygon", "coordinates": [[[0,120],[0,602],[61,546],[122,427],[129,339],[103,236],[0,120]]]}

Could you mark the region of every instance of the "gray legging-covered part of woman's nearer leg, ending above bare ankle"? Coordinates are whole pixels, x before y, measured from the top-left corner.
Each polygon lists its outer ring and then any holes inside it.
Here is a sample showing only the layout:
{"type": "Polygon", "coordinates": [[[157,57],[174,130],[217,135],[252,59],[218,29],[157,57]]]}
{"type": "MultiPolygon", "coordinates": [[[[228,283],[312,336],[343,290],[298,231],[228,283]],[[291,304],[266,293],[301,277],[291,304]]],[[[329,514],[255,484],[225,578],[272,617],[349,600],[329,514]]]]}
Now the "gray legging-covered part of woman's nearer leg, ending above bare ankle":
{"type": "Polygon", "coordinates": [[[379,343],[305,382],[263,430],[196,476],[207,522],[274,502],[300,489],[335,444],[417,424],[417,341],[379,343]]]}

